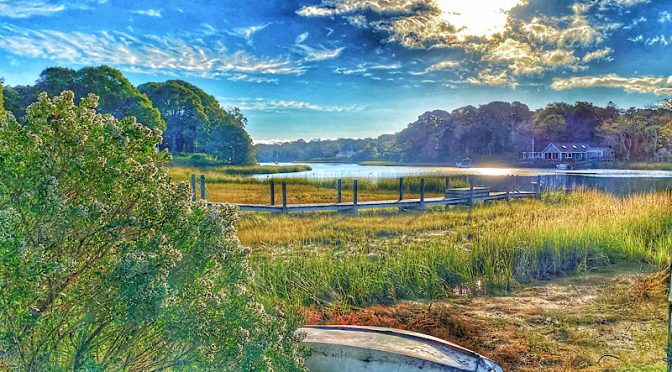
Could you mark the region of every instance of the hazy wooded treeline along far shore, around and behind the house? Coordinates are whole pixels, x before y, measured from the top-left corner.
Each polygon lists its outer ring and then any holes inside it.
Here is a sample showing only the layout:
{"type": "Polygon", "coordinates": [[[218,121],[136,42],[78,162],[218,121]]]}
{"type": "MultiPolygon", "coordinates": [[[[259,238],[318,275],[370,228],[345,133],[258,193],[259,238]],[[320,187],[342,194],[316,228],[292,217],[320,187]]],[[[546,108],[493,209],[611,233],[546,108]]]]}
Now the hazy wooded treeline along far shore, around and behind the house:
{"type": "Polygon", "coordinates": [[[672,161],[672,102],[620,109],[587,102],[531,111],[520,102],[491,102],[422,114],[399,133],[368,139],[298,140],[258,145],[259,161],[384,160],[403,163],[518,158],[532,144],[582,142],[614,149],[622,161],[672,161]]]}

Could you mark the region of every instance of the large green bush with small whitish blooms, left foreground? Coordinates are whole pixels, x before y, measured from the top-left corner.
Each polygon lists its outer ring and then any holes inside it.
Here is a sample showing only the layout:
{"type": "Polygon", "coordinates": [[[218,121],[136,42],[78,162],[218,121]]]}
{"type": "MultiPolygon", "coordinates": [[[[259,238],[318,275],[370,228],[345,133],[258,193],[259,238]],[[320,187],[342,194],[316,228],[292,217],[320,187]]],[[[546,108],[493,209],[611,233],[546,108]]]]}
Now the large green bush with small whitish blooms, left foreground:
{"type": "Polygon", "coordinates": [[[97,101],[0,119],[0,369],[300,369],[245,290],[234,209],[192,204],[160,132],[97,101]]]}

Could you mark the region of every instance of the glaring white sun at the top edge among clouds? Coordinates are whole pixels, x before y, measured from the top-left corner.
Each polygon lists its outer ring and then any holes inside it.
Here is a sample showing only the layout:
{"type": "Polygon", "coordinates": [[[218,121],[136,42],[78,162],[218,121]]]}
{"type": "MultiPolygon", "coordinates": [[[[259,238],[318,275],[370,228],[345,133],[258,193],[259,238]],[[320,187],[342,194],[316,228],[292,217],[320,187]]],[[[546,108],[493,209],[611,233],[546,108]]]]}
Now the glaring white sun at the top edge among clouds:
{"type": "Polygon", "coordinates": [[[506,27],[509,12],[524,0],[436,0],[441,18],[457,28],[458,37],[491,38],[506,27]]]}

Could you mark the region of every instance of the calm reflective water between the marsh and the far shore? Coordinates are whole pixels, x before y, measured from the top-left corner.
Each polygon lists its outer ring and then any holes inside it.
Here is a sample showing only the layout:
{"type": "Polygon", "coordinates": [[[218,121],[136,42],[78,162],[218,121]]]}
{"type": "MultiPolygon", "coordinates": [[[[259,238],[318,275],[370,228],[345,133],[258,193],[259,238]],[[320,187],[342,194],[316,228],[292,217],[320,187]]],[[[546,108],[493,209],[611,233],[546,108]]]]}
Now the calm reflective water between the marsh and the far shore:
{"type": "MultiPolygon", "coordinates": [[[[294,163],[282,163],[290,165],[294,163]]],[[[491,186],[500,190],[512,182],[510,176],[517,176],[519,190],[532,190],[530,182],[541,176],[548,188],[593,187],[616,195],[642,193],[672,189],[672,171],[640,171],[621,169],[589,169],[560,171],[556,169],[531,168],[469,168],[456,167],[414,167],[414,166],[370,166],[359,164],[308,164],[311,171],[257,175],[257,178],[359,178],[380,179],[409,176],[445,177],[473,175],[479,186],[491,186]]]]}

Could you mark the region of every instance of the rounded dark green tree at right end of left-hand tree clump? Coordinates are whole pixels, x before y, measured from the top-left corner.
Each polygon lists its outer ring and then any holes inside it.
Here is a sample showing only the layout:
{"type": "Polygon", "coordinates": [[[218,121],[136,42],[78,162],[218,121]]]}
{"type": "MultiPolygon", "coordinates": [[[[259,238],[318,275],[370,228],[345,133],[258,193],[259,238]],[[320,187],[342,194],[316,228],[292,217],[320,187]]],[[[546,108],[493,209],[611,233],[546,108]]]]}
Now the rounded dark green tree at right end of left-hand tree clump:
{"type": "Polygon", "coordinates": [[[161,111],[168,124],[164,147],[173,152],[204,151],[227,164],[254,164],[252,140],[238,109],[225,111],[202,89],[182,80],[138,87],[161,111]]]}

